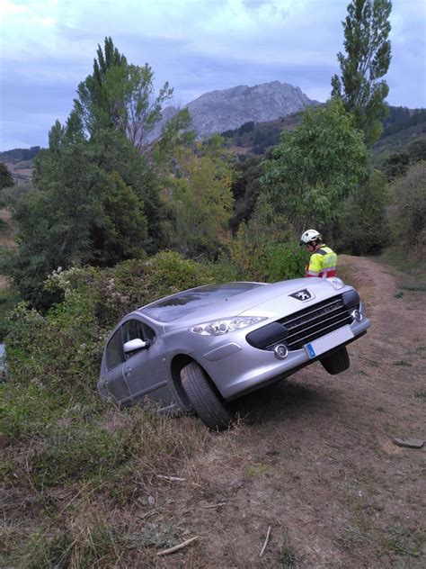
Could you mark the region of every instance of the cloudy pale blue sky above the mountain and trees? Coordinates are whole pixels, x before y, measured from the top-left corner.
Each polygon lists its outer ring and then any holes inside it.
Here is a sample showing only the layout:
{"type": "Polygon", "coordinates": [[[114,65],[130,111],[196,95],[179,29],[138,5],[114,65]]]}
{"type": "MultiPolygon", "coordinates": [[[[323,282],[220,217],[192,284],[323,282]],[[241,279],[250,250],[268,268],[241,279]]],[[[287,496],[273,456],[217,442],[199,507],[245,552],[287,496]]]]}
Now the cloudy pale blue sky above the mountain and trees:
{"type": "MultiPolygon", "coordinates": [[[[111,36],[173,104],[279,80],[329,98],[349,0],[0,0],[0,151],[46,147],[111,36]]],[[[426,2],[393,0],[387,102],[426,107],[426,2]]]]}

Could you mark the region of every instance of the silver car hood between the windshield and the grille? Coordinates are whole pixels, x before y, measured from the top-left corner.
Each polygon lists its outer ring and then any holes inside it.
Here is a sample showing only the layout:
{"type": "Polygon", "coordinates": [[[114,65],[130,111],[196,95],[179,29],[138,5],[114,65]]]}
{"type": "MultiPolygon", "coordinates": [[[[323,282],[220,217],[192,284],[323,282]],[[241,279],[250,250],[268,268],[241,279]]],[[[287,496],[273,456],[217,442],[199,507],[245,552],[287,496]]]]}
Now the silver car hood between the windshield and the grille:
{"type": "MultiPolygon", "coordinates": [[[[162,324],[164,331],[172,331],[232,316],[263,316],[278,319],[349,289],[351,286],[336,291],[333,285],[323,278],[297,278],[261,286],[243,294],[235,294],[229,299],[203,306],[202,309],[186,314],[182,318],[162,324]],[[302,301],[291,296],[300,291],[307,291],[310,298],[302,301]]],[[[302,297],[306,297],[306,294],[302,297]]]]}

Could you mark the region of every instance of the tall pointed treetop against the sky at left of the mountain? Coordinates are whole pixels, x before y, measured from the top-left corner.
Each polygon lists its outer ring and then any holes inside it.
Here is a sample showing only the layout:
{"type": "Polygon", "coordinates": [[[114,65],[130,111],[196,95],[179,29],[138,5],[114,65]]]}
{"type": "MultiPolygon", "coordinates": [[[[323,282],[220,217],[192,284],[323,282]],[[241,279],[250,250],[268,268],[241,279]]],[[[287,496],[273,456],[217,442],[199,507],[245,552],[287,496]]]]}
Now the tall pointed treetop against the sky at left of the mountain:
{"type": "Polygon", "coordinates": [[[162,106],[173,89],[168,83],[154,96],[154,72],[146,63],[130,65],[124,55],[105,38],[104,49],[98,45],[93,74],[77,88],[74,112],[90,136],[102,128],[115,128],[142,149],[146,134],[161,119],[162,106]]]}

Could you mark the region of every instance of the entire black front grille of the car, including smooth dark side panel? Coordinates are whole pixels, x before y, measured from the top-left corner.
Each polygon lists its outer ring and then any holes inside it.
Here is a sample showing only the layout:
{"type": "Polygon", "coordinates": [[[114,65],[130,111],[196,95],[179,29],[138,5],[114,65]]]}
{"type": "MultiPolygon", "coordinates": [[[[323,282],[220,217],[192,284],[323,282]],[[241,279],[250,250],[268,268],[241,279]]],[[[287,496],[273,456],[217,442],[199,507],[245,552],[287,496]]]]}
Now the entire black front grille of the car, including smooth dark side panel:
{"type": "Polygon", "coordinates": [[[277,344],[285,344],[288,350],[303,348],[305,344],[351,324],[351,312],[359,307],[359,296],[355,295],[346,296],[343,301],[340,294],[294,312],[247,334],[247,342],[253,348],[268,350],[277,344]]]}

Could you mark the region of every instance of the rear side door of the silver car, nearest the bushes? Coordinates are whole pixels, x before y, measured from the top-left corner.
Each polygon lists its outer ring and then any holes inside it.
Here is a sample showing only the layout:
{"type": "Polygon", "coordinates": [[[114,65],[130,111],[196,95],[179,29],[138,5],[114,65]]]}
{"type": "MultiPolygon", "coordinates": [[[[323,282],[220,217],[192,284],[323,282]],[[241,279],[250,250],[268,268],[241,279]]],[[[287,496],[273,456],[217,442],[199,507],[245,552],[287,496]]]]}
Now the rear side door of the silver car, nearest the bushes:
{"type": "Polygon", "coordinates": [[[109,340],[102,365],[102,389],[112,395],[118,402],[129,398],[129,385],[123,375],[124,363],[123,341],[121,327],[114,332],[109,340]]]}

